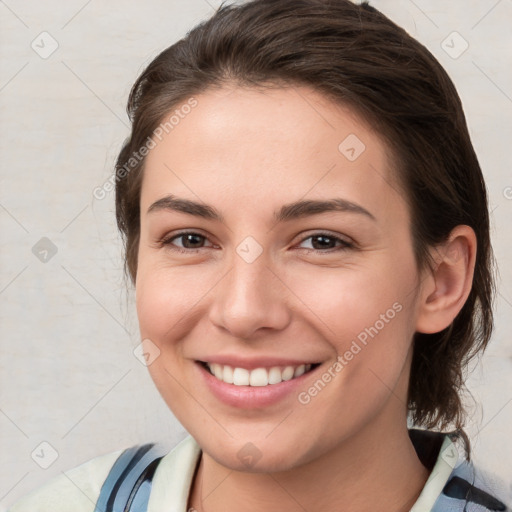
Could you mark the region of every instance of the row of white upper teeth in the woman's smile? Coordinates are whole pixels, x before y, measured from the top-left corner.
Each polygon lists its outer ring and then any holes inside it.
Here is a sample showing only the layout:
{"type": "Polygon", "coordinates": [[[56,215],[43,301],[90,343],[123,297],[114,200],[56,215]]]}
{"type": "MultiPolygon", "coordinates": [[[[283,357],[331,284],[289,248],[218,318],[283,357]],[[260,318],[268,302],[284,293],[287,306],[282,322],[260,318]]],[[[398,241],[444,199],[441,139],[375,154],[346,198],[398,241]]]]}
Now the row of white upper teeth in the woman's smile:
{"type": "Polygon", "coordinates": [[[235,386],[255,386],[263,387],[272,384],[279,384],[300,377],[311,370],[311,364],[301,364],[299,366],[273,366],[272,368],[255,368],[247,370],[245,368],[233,368],[228,365],[218,363],[207,363],[210,372],[219,380],[235,386]]]}

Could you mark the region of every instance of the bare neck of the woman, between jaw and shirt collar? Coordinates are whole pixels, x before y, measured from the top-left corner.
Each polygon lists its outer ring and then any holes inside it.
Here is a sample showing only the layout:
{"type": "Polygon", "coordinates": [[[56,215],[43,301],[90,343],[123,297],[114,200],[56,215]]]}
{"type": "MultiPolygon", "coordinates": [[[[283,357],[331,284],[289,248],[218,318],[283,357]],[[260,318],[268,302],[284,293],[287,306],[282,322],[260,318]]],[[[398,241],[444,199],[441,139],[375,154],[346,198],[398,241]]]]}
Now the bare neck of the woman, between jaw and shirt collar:
{"type": "MultiPolygon", "coordinates": [[[[395,416],[396,418],[396,416],[395,416]]],[[[274,473],[230,470],[203,452],[190,493],[197,512],[339,510],[407,512],[428,470],[419,461],[406,422],[374,422],[349,441],[300,467],[274,473]]]]}

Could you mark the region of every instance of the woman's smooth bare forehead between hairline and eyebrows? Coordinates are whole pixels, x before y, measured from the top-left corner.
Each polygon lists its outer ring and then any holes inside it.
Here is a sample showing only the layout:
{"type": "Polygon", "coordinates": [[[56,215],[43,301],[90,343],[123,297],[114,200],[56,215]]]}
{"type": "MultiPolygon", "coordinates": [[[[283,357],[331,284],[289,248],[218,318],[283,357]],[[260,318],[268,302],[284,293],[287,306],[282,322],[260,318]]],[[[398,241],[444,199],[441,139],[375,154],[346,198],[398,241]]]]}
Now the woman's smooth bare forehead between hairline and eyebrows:
{"type": "Polygon", "coordinates": [[[226,200],[226,207],[240,206],[236,198],[244,197],[243,205],[254,208],[306,195],[349,195],[374,203],[373,211],[402,195],[381,137],[351,109],[312,89],[226,86],[195,101],[153,137],[143,210],[166,192],[226,200]]]}

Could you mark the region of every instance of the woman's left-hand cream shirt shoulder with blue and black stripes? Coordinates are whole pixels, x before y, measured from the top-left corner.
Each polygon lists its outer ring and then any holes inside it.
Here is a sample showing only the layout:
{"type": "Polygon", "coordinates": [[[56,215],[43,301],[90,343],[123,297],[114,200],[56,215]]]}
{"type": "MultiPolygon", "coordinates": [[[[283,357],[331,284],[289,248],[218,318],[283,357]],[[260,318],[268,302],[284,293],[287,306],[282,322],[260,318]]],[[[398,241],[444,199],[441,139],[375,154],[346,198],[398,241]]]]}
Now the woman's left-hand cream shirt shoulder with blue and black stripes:
{"type": "Polygon", "coordinates": [[[177,504],[179,509],[183,503],[186,506],[199,455],[199,445],[191,436],[177,445],[168,441],[134,445],[62,472],[8,512],[97,512],[112,504],[115,510],[125,510],[132,502],[136,510],[146,510],[140,506],[148,501],[148,510],[175,509],[177,504]]]}

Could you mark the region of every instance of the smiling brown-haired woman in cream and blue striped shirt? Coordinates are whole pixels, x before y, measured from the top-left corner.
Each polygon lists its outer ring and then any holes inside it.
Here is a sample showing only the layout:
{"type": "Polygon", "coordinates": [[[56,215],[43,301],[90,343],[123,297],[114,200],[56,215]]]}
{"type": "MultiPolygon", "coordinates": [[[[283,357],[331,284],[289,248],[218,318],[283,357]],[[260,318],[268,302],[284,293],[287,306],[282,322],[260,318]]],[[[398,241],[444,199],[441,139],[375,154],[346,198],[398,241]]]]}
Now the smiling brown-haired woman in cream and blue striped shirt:
{"type": "Polygon", "coordinates": [[[367,4],[253,0],[162,52],[128,110],[117,222],[191,436],[12,511],[507,510],[460,399],[492,332],[486,189],[432,55],[367,4]]]}

